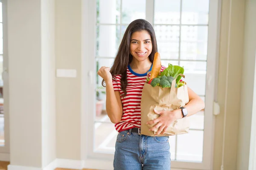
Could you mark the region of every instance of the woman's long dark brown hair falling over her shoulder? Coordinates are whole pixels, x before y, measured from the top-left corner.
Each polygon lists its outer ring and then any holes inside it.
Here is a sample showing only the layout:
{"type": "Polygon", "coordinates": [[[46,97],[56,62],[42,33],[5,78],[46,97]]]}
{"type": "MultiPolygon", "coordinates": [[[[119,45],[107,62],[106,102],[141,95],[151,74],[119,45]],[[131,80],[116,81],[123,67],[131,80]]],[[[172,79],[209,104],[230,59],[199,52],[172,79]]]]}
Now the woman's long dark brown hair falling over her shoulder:
{"type": "MultiPolygon", "coordinates": [[[[132,55],[130,53],[130,43],[131,43],[131,35],[137,31],[148,31],[148,34],[151,37],[152,42],[152,52],[148,56],[149,60],[153,62],[154,54],[157,52],[157,40],[154,32],[153,26],[148,23],[148,21],[143,19],[134,20],[127,27],[125,34],[122,38],[121,44],[119,45],[118,52],[116,54],[116,58],[114,60],[113,66],[110,69],[110,73],[112,76],[117,74],[121,74],[121,89],[124,91],[126,95],[126,87],[128,85],[127,82],[127,66],[131,63],[132,55]]],[[[102,85],[104,85],[105,80],[102,80],[102,85]]]]}

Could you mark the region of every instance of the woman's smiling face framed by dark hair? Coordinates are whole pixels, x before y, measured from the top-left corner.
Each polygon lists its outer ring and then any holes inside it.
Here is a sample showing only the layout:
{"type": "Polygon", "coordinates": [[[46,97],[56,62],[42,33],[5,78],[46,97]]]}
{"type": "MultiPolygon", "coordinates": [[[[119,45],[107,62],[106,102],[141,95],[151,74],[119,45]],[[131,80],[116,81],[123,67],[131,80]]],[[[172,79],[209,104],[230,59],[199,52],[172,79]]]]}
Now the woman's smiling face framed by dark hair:
{"type": "Polygon", "coordinates": [[[152,52],[152,41],[148,31],[136,31],[131,35],[130,53],[134,59],[144,61],[152,52]]]}

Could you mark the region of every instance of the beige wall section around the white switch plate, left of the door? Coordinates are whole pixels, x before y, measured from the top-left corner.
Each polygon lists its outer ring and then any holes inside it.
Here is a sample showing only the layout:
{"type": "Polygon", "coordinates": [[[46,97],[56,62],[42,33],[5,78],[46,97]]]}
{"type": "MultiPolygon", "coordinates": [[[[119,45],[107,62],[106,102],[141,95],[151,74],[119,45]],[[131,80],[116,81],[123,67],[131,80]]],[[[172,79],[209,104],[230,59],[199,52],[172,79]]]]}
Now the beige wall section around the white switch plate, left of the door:
{"type": "Polygon", "coordinates": [[[81,0],[55,0],[56,69],[76,69],[76,78],[56,78],[57,157],[80,160],[81,0]]]}

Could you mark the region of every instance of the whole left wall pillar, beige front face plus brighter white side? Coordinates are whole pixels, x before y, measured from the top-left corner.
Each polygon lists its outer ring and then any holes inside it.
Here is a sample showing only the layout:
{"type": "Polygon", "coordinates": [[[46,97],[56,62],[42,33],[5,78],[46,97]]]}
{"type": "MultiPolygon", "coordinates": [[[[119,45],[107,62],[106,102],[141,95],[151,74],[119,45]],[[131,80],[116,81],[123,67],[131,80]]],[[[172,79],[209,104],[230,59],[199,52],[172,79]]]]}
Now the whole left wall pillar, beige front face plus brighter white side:
{"type": "Polygon", "coordinates": [[[10,165],[56,158],[54,1],[8,1],[10,165]]]}

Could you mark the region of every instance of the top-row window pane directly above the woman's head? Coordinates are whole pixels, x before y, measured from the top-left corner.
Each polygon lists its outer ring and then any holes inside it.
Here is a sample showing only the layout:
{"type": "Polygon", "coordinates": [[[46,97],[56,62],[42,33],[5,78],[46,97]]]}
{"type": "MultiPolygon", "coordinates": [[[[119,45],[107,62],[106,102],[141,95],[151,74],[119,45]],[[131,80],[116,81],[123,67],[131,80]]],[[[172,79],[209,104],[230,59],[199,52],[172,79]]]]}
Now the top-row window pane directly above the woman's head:
{"type": "Polygon", "coordinates": [[[122,0],[122,23],[146,17],[146,0],[122,0]]]}

